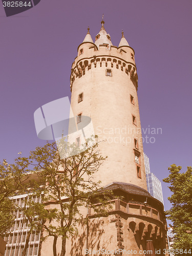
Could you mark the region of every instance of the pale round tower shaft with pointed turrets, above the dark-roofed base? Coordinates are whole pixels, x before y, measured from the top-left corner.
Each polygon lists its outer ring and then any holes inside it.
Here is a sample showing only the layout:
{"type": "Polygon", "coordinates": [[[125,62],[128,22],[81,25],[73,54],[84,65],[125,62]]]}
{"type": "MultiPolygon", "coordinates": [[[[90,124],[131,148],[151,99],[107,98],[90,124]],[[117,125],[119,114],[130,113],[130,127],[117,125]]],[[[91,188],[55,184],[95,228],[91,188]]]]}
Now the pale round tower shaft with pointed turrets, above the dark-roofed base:
{"type": "Polygon", "coordinates": [[[137,97],[135,52],[123,32],[119,47],[102,27],[95,44],[88,33],[72,65],[71,106],[75,116],[89,116],[108,159],[97,178],[146,187],[137,97]]]}

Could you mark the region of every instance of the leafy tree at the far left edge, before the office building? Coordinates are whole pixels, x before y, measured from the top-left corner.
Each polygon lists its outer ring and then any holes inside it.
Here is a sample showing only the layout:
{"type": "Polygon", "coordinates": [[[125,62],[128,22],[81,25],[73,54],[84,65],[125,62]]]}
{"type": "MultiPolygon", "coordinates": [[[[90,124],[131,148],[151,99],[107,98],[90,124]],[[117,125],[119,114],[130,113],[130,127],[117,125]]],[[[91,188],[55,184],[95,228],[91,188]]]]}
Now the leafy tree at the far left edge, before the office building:
{"type": "Polygon", "coordinates": [[[10,212],[17,206],[10,197],[26,186],[28,166],[28,159],[24,157],[16,158],[13,164],[8,164],[6,159],[0,163],[0,237],[6,236],[12,226],[14,218],[10,212]]]}

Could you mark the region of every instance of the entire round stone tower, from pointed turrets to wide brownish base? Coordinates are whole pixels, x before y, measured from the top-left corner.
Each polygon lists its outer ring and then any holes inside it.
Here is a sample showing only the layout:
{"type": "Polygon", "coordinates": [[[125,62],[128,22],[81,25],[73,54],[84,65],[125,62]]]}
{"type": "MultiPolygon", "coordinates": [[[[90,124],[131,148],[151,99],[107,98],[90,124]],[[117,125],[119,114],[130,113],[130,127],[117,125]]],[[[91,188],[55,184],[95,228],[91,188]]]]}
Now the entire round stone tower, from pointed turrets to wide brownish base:
{"type": "Polygon", "coordinates": [[[81,116],[91,117],[101,154],[108,156],[95,179],[123,199],[113,200],[108,217],[96,218],[88,210],[89,223],[79,226],[79,236],[69,241],[68,255],[101,255],[101,249],[110,252],[105,255],[128,250],[146,255],[150,246],[164,255],[163,205],[146,186],[135,52],[123,32],[119,46],[113,46],[103,20],[95,43],[88,28],[77,51],[70,78],[73,114],[77,122],[81,116]]]}

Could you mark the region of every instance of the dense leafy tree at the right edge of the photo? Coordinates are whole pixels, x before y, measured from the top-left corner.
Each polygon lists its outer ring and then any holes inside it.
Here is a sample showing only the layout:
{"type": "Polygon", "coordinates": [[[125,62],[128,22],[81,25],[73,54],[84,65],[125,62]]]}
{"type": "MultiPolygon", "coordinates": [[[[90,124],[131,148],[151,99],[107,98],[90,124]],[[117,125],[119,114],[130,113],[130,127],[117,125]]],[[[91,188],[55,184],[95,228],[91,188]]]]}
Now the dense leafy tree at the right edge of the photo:
{"type": "Polygon", "coordinates": [[[173,222],[173,248],[187,253],[192,248],[192,168],[187,167],[185,173],[180,173],[181,168],[176,164],[171,165],[168,168],[170,174],[163,181],[170,183],[168,188],[173,193],[168,197],[173,206],[166,211],[167,219],[173,222]]]}

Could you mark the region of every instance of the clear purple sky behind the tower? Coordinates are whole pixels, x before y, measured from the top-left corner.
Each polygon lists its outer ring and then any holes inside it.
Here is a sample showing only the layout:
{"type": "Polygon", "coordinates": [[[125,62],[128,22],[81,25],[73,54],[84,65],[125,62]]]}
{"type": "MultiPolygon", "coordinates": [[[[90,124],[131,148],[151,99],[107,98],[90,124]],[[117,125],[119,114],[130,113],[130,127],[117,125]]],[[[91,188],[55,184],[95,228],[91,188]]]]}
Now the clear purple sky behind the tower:
{"type": "MultiPolygon", "coordinates": [[[[118,46],[121,30],[135,50],[141,125],[162,128],[144,143],[151,172],[160,180],[170,164],[191,165],[191,0],[41,0],[6,17],[0,3],[0,161],[28,156],[37,138],[33,113],[70,96],[71,65],[90,27],[94,40],[104,13],[105,30],[118,46]]],[[[147,134],[148,135],[148,134],[147,134]]],[[[163,185],[165,209],[170,207],[163,185]]]]}

